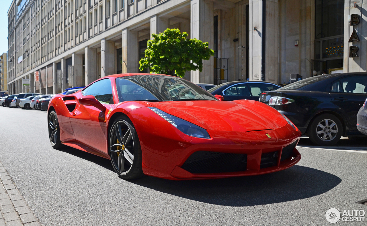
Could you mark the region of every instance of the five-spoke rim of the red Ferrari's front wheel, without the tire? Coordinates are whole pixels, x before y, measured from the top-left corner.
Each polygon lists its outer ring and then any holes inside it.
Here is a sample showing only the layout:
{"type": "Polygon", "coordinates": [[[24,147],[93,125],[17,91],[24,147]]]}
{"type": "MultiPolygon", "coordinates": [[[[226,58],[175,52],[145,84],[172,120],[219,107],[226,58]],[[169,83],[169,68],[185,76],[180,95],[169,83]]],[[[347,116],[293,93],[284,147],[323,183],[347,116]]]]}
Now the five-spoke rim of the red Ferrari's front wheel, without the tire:
{"type": "Polygon", "coordinates": [[[134,139],[130,127],[124,121],[117,122],[110,136],[111,160],[120,174],[127,174],[134,161],[134,139]]]}

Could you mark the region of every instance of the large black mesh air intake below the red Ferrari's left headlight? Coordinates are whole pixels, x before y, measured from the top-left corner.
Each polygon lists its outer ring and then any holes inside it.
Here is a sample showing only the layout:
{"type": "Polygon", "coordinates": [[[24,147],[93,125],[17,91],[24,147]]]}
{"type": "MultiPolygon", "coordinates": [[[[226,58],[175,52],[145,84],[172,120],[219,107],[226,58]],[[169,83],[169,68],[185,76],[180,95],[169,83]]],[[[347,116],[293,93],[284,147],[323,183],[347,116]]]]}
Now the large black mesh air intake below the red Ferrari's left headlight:
{"type": "Polygon", "coordinates": [[[190,173],[228,173],[245,171],[246,163],[246,154],[197,151],[190,155],[181,168],[190,173]]]}

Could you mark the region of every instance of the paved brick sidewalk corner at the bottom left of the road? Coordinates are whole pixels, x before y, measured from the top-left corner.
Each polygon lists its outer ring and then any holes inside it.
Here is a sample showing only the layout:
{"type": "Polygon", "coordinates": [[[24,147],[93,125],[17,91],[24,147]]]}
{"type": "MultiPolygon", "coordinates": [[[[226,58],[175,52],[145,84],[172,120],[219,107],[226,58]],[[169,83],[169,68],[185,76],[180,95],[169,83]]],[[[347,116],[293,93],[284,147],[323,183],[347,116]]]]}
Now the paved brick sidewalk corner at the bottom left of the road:
{"type": "Polygon", "coordinates": [[[0,226],[41,226],[0,162],[0,226]]]}

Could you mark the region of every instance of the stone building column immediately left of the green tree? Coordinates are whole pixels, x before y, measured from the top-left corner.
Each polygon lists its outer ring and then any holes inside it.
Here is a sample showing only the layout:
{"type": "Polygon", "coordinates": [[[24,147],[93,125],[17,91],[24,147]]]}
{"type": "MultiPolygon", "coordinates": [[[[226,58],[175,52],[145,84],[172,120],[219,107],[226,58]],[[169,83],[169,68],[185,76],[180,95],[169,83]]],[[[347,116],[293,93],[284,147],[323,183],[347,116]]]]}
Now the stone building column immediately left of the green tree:
{"type": "Polygon", "coordinates": [[[139,72],[138,34],[122,30],[122,73],[139,72]]]}

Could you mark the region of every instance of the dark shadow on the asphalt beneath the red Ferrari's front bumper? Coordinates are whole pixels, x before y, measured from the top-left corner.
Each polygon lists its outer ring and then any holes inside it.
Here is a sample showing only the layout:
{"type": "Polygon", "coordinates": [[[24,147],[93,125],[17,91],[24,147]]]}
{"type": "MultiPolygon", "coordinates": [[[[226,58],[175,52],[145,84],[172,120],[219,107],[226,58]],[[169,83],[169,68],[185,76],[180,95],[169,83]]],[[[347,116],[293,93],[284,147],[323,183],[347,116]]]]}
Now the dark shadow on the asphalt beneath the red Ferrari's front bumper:
{"type": "Polygon", "coordinates": [[[131,182],[185,199],[243,207],[306,199],[333,189],[341,181],[321,170],[293,166],[276,173],[247,177],[194,181],[144,177],[131,182]]]}

